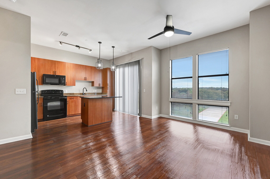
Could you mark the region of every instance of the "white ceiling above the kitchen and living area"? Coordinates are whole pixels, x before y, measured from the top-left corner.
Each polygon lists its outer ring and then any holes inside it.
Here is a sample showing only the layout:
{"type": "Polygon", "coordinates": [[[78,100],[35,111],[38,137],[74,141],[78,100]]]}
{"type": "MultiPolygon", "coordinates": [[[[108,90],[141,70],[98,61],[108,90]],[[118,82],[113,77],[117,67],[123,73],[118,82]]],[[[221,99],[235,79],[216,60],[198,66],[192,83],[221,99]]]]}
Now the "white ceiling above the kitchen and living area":
{"type": "MultiPolygon", "coordinates": [[[[112,59],[143,48],[163,49],[249,23],[249,12],[270,0],[1,0],[0,7],[31,16],[31,43],[112,59]],[[192,32],[147,38],[163,31],[166,15],[173,26],[192,32]],[[59,37],[61,32],[69,33],[59,37]],[[86,49],[63,44],[75,44],[86,49]]],[[[0,23],[1,24],[1,23],[0,23]]]]}

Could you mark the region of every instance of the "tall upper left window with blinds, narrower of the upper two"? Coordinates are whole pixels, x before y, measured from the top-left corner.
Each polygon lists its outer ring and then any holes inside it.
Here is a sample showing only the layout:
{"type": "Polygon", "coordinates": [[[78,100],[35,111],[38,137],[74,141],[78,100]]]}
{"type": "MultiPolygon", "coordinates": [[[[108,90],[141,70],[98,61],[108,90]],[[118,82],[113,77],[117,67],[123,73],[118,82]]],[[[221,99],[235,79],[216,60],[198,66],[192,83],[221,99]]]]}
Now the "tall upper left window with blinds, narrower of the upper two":
{"type": "Polygon", "coordinates": [[[172,60],[171,97],[192,99],[192,56],[172,60]]]}

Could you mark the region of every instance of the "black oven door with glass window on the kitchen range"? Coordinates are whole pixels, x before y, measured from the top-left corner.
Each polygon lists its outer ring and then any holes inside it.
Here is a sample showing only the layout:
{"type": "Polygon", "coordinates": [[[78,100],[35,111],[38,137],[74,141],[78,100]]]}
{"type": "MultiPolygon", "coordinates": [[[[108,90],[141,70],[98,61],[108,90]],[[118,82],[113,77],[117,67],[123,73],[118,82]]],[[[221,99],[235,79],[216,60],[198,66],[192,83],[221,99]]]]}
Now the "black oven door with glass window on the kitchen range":
{"type": "Polygon", "coordinates": [[[67,112],[67,97],[44,97],[43,114],[67,112]]]}

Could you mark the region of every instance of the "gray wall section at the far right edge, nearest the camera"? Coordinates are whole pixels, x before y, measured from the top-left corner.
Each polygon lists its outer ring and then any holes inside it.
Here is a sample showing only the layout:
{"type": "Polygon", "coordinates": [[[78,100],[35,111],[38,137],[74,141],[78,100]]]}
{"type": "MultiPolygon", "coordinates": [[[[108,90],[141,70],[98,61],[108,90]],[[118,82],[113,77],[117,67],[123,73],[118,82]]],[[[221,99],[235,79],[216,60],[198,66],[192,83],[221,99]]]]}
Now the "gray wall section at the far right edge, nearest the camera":
{"type": "Polygon", "coordinates": [[[250,12],[250,137],[270,141],[270,5],[250,12]]]}

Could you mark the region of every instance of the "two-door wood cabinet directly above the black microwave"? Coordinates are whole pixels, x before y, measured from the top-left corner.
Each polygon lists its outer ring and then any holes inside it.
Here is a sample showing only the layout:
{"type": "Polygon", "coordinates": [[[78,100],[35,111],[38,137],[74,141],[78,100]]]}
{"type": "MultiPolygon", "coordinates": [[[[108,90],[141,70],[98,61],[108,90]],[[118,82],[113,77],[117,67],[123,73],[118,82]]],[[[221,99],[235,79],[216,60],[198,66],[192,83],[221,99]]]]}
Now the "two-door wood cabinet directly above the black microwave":
{"type": "Polygon", "coordinates": [[[66,75],[66,62],[43,59],[43,73],[50,75],[66,75]]]}

